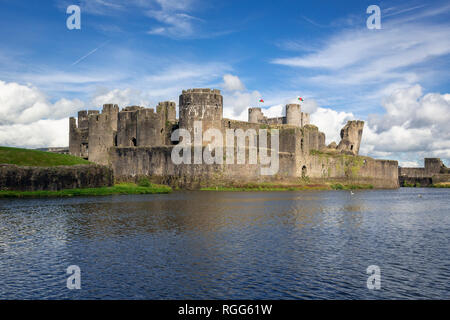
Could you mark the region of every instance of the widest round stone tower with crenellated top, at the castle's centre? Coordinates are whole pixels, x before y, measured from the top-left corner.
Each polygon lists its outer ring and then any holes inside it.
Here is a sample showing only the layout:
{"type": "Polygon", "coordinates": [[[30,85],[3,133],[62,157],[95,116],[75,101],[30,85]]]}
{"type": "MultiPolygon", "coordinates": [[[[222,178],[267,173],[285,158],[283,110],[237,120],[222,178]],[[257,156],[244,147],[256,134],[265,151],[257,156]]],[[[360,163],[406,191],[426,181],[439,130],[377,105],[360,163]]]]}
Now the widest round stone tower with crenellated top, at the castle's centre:
{"type": "MultiPolygon", "coordinates": [[[[223,97],[217,89],[189,89],[180,95],[180,128],[194,137],[194,121],[202,121],[202,131],[222,130],[223,97]]],[[[203,132],[201,134],[203,134],[203,132]]]]}

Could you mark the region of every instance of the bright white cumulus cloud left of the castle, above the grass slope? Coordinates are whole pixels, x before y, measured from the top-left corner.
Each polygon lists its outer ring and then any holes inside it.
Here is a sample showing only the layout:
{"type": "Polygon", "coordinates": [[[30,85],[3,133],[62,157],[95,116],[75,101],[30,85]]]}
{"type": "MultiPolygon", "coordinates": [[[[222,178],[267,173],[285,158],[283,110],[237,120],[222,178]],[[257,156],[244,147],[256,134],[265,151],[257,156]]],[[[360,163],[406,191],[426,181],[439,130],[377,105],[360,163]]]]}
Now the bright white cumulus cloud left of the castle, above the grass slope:
{"type": "Polygon", "coordinates": [[[68,145],[68,116],[83,109],[80,100],[50,103],[37,88],[0,81],[0,145],[68,145]]]}

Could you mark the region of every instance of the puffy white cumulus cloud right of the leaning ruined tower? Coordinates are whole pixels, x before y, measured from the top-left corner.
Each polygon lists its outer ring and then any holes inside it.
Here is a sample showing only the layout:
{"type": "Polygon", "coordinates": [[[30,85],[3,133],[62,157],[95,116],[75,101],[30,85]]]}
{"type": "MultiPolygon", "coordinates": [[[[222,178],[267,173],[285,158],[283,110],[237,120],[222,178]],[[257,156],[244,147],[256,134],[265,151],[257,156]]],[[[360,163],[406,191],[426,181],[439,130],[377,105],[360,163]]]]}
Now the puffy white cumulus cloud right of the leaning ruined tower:
{"type": "Polygon", "coordinates": [[[361,152],[405,161],[450,159],[450,95],[423,95],[419,85],[397,89],[382,101],[383,115],[369,116],[361,152]]]}

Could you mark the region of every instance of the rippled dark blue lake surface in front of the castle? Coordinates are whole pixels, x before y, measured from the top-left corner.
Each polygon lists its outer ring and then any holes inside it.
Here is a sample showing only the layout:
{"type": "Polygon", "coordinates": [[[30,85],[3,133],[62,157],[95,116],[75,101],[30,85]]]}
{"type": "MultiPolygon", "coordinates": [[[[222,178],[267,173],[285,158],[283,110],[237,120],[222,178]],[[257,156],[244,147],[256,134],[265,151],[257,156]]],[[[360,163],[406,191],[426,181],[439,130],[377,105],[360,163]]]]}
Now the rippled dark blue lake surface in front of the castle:
{"type": "Polygon", "coordinates": [[[450,299],[449,240],[450,189],[0,199],[0,299],[450,299]]]}

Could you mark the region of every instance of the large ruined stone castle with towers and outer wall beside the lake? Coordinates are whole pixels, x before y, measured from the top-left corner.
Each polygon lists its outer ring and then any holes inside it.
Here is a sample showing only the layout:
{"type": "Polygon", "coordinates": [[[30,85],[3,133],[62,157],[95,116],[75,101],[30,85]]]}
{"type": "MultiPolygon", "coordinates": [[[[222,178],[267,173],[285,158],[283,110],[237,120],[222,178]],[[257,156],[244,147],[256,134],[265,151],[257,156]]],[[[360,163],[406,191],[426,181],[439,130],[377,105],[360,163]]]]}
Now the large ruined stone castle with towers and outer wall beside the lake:
{"type": "MultiPolygon", "coordinates": [[[[286,105],[286,115],[267,118],[261,108],[249,108],[248,121],[223,118],[223,97],[217,89],[183,90],[175,102],[160,102],[154,109],[130,106],[119,110],[105,104],[102,112],[80,111],[78,122],[70,118],[69,152],[89,161],[111,166],[118,180],[148,176],[157,182],[180,187],[299,179],[352,180],[375,187],[398,186],[397,161],[359,156],[363,121],[349,121],[341,130],[339,144],[325,145],[325,134],[310,124],[309,114],[299,104],[286,105]],[[195,122],[201,121],[201,131],[195,122]],[[258,163],[174,164],[171,152],[178,141],[172,133],[185,129],[191,135],[208,129],[227,132],[279,132],[279,170],[261,176],[258,163]],[[240,130],[241,129],[241,130],[240,130]]],[[[245,137],[244,137],[245,138],[245,137]]],[[[248,135],[247,153],[253,139],[248,135]]],[[[210,148],[204,143],[203,148],[210,148]]]]}

